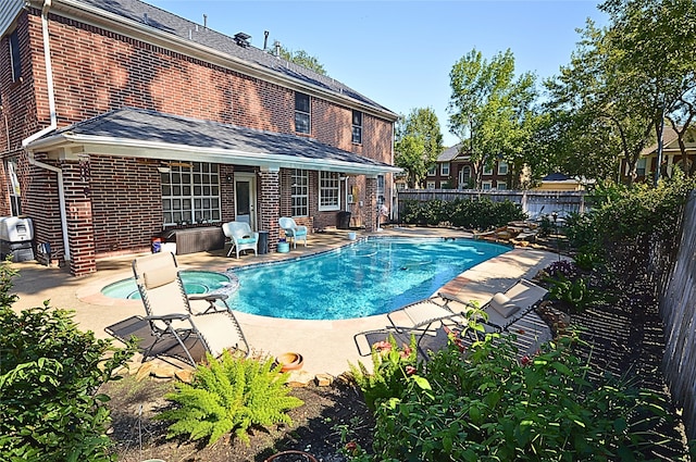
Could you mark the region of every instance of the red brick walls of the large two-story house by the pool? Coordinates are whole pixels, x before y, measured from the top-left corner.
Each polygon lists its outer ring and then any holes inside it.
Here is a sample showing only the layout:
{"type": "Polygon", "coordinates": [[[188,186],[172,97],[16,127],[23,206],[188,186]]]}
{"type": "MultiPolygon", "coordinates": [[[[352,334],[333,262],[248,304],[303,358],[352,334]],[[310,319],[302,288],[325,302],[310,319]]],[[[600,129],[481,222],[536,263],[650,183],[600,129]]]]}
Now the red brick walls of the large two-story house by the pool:
{"type": "MultiPolygon", "coordinates": [[[[3,157],[18,152],[22,139],[50,124],[40,11],[29,9],[17,24],[23,57],[21,83],[11,83],[8,39],[0,43],[3,104],[0,123],[7,121],[7,129],[0,129],[3,157]],[[9,140],[5,132],[10,133],[9,140]]],[[[51,15],[49,28],[59,127],[113,109],[135,107],[294,134],[293,90],[74,20],[51,15]]],[[[313,97],[311,101],[311,136],[340,149],[390,162],[391,123],[364,114],[363,142],[353,145],[351,110],[313,97]]],[[[24,165],[28,165],[26,159],[24,165]]],[[[48,241],[60,253],[57,176],[28,166],[25,173],[20,178],[23,205],[36,223],[37,242],[48,241]]],[[[69,166],[69,230],[72,238],[78,239],[73,249],[73,254],[78,253],[74,269],[90,272],[95,255],[149,246],[151,235],[161,229],[161,193],[154,168],[137,161],[92,155],[88,186],[83,184],[85,178],[80,175],[84,174],[76,162],[69,166]],[[85,188],[89,188],[87,193],[85,188]],[[125,215],[133,216],[126,218],[125,215]],[[88,229],[94,229],[94,235],[83,238],[88,229]]],[[[322,226],[335,225],[335,214],[318,214],[315,172],[311,178],[312,215],[302,224],[313,228],[313,218],[316,218],[322,226]]],[[[269,188],[273,184],[262,180],[259,193],[271,193],[269,188]]],[[[9,210],[9,198],[5,187],[0,190],[2,212],[9,210]]],[[[223,220],[233,220],[233,191],[224,180],[222,200],[223,220]]],[[[262,200],[268,205],[271,199],[264,196],[262,200]]],[[[260,228],[272,226],[269,216],[259,218],[260,228]]],[[[273,226],[277,228],[277,224],[273,226]]]]}

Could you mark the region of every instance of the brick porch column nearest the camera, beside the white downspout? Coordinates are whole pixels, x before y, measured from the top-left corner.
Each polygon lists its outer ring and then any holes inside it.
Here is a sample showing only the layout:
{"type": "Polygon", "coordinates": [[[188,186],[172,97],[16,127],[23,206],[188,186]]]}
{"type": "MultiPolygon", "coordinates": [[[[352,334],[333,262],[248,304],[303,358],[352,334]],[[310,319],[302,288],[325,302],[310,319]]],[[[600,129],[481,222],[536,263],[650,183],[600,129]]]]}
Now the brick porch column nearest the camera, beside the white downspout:
{"type": "Polygon", "coordinates": [[[83,276],[97,271],[89,160],[79,163],[63,162],[61,166],[70,242],[70,272],[75,276],[83,276]]]}

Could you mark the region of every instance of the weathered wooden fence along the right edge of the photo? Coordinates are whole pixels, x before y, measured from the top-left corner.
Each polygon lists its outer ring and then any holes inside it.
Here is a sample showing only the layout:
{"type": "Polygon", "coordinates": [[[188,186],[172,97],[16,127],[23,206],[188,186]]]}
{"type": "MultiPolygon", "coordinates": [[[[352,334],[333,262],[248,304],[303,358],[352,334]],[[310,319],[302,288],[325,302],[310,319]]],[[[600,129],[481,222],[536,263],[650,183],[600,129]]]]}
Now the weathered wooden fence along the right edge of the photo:
{"type": "MultiPolygon", "coordinates": [[[[669,277],[660,284],[664,323],[663,371],[688,439],[696,438],[696,191],[682,221],[682,239],[669,277]]],[[[676,232],[676,229],[675,229],[676,232]]]]}

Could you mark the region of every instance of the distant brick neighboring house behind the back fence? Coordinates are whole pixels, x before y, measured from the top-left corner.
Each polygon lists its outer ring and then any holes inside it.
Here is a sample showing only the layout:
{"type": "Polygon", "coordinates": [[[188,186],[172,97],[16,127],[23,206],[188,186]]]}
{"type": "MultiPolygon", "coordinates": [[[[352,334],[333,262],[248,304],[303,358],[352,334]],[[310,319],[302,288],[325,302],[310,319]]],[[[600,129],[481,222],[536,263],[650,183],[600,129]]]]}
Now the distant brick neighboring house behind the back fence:
{"type": "MultiPolygon", "coordinates": [[[[426,189],[472,189],[474,187],[474,165],[467,152],[460,152],[461,143],[445,149],[437,158],[436,165],[425,177],[426,189]]],[[[481,188],[511,189],[508,164],[495,161],[493,167],[484,167],[481,188]]]]}

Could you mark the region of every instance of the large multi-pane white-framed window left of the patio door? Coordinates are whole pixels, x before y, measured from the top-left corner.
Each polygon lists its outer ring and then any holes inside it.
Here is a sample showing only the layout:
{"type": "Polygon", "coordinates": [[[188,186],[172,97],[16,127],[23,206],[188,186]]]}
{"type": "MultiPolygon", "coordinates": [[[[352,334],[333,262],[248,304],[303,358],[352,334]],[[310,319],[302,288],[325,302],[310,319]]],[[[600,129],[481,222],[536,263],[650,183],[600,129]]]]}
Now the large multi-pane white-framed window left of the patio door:
{"type": "Polygon", "coordinates": [[[160,177],[165,225],[220,222],[217,164],[176,162],[160,177]]]}

